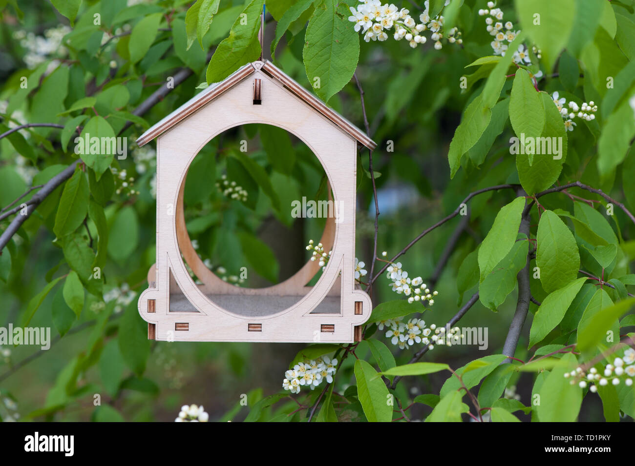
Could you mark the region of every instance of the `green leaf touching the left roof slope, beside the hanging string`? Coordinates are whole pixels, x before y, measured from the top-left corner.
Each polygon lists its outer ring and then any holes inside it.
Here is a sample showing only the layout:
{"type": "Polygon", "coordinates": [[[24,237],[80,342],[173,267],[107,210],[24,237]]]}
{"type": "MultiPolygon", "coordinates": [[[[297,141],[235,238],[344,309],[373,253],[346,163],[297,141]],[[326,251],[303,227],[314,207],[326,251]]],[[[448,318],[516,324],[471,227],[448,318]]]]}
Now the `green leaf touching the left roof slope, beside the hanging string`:
{"type": "Polygon", "coordinates": [[[260,56],[260,13],[264,0],[252,0],[229,31],[211,57],[207,67],[207,82],[219,82],[231,75],[245,63],[254,61],[260,56]],[[245,16],[243,16],[245,15],[245,16]]]}

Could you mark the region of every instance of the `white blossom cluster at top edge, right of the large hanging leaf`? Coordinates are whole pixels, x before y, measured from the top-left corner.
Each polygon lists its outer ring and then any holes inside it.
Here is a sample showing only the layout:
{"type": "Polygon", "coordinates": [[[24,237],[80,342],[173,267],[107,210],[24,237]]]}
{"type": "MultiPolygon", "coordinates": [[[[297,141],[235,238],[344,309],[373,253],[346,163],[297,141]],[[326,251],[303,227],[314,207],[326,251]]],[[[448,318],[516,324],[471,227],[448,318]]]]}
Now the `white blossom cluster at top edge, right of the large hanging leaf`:
{"type": "MultiPolygon", "coordinates": [[[[445,4],[449,3],[450,0],[446,0],[445,4]]],[[[434,48],[437,50],[443,48],[441,39],[444,37],[450,43],[462,44],[463,42],[463,39],[460,38],[461,33],[456,27],[448,30],[447,34],[445,33],[443,16],[430,17],[428,0],[425,0],[425,10],[419,15],[420,23],[418,24],[406,8],[399,10],[394,4],[382,4],[380,0],[363,0],[363,3],[358,4],[357,8],[350,7],[350,10],[349,21],[355,23],[355,32],[361,30],[366,42],[387,40],[386,31],[391,29],[394,30],[392,37],[396,41],[406,39],[412,48],[427,42],[427,37],[421,35],[426,30],[431,32],[430,38],[434,41],[434,48]]]]}

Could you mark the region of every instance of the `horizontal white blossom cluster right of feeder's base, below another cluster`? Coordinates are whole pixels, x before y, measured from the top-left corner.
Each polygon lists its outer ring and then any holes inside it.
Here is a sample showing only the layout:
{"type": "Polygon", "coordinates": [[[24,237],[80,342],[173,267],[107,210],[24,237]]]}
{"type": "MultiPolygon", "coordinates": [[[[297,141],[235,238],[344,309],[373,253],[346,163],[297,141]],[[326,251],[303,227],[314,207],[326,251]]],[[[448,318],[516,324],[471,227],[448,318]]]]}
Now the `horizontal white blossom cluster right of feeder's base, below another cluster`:
{"type": "Polygon", "coordinates": [[[400,349],[407,349],[415,343],[427,345],[429,349],[434,349],[434,344],[452,346],[455,340],[462,338],[458,327],[446,330],[445,327],[437,327],[434,324],[426,327],[423,319],[413,318],[408,322],[404,320],[404,317],[398,317],[380,320],[377,323],[379,330],[387,329],[386,337],[400,349]]]}

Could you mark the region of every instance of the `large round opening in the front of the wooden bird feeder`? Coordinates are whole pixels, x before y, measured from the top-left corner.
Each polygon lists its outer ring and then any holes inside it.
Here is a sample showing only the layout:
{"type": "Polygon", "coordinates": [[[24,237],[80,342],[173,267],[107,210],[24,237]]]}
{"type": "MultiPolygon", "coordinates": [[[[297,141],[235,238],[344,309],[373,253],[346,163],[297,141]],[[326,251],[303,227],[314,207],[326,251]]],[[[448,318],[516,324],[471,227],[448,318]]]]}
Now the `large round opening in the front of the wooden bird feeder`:
{"type": "MultiPolygon", "coordinates": [[[[194,283],[227,311],[283,311],[305,295],[297,292],[298,280],[299,287],[314,285],[328,263],[336,214],[330,183],[318,157],[284,129],[246,124],[218,134],[190,163],[182,201],[185,231],[178,224],[177,231],[184,264],[194,283]],[[254,310],[236,299],[241,290],[227,294],[227,285],[279,287],[259,294],[254,310]]],[[[330,307],[339,312],[333,301],[330,307]]]]}

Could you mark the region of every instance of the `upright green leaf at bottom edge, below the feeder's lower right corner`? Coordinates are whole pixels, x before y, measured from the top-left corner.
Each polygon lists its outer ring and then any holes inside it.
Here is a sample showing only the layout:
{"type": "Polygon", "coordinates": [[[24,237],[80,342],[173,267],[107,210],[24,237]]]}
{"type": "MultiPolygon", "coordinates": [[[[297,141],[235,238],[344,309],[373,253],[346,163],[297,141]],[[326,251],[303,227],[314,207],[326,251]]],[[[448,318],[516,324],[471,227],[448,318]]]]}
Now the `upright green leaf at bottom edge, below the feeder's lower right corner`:
{"type": "Polygon", "coordinates": [[[391,422],[391,394],[384,381],[377,377],[373,366],[366,361],[355,361],[355,379],[358,386],[358,398],[368,422],[391,422]]]}

